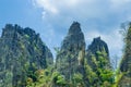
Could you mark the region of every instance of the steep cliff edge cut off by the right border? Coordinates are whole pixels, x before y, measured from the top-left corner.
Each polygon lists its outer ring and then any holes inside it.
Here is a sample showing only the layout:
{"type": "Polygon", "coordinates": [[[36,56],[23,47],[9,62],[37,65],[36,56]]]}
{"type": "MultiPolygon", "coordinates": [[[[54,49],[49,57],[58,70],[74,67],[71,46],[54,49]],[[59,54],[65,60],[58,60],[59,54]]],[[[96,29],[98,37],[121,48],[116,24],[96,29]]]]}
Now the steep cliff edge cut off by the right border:
{"type": "Polygon", "coordinates": [[[131,24],[129,25],[124,41],[126,48],[120,63],[121,78],[119,79],[118,87],[131,87],[131,24]]]}

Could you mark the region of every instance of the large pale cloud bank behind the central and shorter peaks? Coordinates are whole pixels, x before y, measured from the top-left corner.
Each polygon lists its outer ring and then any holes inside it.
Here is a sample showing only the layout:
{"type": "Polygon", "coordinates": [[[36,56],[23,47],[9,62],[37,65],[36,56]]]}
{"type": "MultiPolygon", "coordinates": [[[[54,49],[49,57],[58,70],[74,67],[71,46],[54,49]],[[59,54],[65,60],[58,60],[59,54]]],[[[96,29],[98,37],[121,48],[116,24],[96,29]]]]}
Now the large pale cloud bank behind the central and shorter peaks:
{"type": "MultiPolygon", "coordinates": [[[[131,20],[131,0],[33,1],[35,7],[43,10],[43,21],[51,24],[56,34],[61,32],[66,35],[66,29],[68,29],[66,27],[69,27],[72,21],[79,21],[84,27],[82,29],[86,33],[87,42],[91,42],[94,37],[100,36],[108,44],[111,54],[121,53],[122,37],[115,28],[119,27],[120,23],[131,20]],[[110,33],[106,33],[107,29],[110,33]]],[[[61,39],[61,37],[55,39],[61,39]]]]}

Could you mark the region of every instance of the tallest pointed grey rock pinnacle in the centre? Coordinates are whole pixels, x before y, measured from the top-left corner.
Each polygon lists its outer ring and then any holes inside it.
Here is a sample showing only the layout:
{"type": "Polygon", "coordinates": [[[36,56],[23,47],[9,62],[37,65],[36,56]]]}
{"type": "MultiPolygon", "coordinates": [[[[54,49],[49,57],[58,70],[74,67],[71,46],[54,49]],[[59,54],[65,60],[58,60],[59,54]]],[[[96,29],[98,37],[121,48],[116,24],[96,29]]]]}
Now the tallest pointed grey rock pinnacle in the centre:
{"type": "Polygon", "coordinates": [[[83,73],[85,52],[84,35],[80,23],[74,22],[62,41],[60,53],[57,55],[57,70],[70,80],[74,73],[83,73]]]}

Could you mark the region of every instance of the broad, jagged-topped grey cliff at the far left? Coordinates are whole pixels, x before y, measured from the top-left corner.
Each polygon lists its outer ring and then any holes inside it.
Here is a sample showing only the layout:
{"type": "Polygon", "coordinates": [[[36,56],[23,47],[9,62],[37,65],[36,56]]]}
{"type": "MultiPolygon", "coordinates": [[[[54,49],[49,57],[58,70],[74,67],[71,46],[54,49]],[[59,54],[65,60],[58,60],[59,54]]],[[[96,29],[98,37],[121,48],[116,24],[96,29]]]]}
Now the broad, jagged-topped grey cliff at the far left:
{"type": "Polygon", "coordinates": [[[27,76],[52,63],[52,54],[38,34],[28,27],[5,25],[0,38],[0,87],[24,87],[27,76]]]}

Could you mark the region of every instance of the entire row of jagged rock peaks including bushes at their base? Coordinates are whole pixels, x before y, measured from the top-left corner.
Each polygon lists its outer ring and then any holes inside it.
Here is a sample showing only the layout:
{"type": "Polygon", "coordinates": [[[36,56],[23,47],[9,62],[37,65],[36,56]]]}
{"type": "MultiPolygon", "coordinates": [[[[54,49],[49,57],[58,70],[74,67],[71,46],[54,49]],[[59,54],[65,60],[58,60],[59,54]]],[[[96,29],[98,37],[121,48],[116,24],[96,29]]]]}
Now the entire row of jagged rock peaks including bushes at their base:
{"type": "Polygon", "coordinates": [[[107,44],[94,38],[86,49],[81,25],[74,22],[57,51],[56,62],[31,28],[8,24],[0,38],[0,87],[131,87],[131,25],[124,54],[115,72],[107,44]]]}

